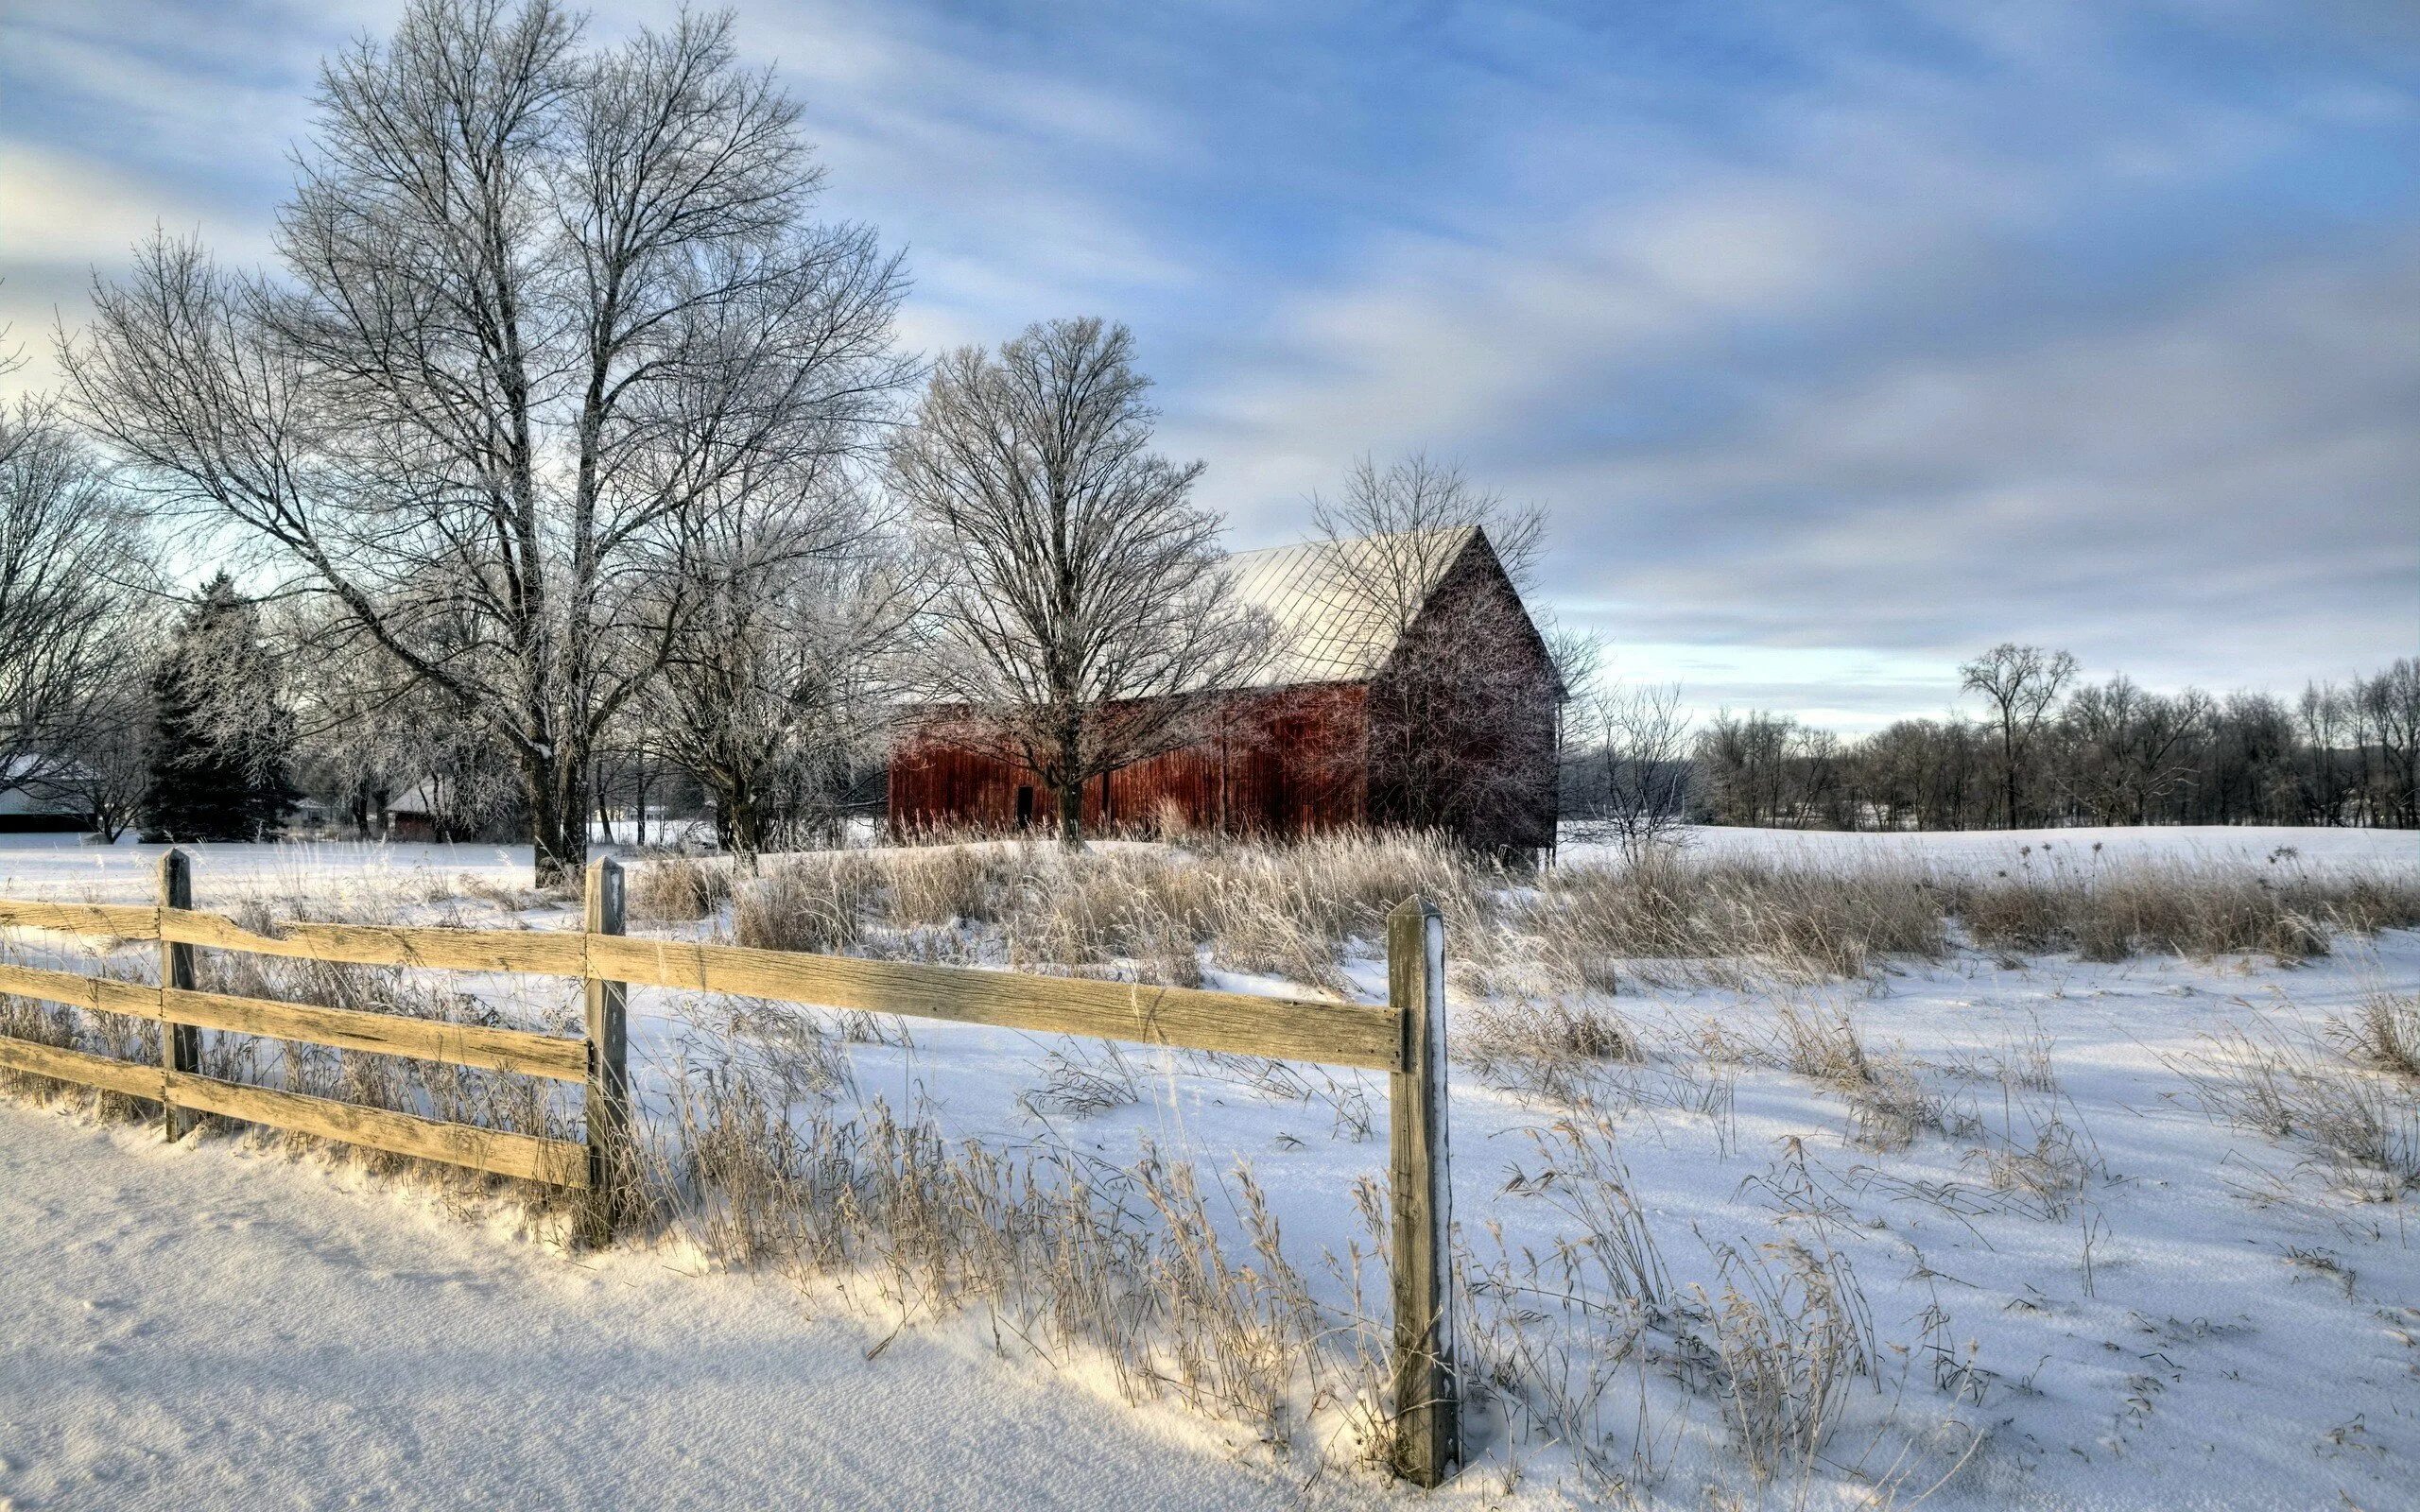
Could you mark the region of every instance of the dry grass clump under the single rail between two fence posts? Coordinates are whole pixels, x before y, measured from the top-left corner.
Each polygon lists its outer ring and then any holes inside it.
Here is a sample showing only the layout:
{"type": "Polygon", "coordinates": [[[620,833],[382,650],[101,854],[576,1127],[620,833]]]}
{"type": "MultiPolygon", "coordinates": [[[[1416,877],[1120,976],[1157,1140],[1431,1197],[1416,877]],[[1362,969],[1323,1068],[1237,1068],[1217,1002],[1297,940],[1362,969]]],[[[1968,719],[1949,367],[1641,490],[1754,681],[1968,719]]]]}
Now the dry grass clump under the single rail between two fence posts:
{"type": "MultiPolygon", "coordinates": [[[[1111,1069],[1065,1069],[1074,1103],[1120,1101],[1111,1069]]],[[[1104,1364],[1130,1401],[1176,1398],[1275,1447],[1321,1418],[1384,1437],[1382,1350],[1355,1343],[1372,1326],[1312,1299],[1249,1166],[1205,1190],[1150,1147],[1123,1166],[1004,1154],[881,1101],[799,1113],[762,1072],[682,1067],[651,1125],[656,1222],[714,1260],[898,1326],[975,1309],[1002,1343],[1104,1364]]]]}

